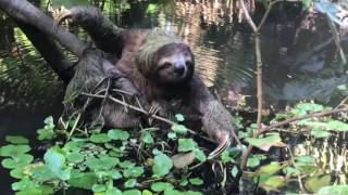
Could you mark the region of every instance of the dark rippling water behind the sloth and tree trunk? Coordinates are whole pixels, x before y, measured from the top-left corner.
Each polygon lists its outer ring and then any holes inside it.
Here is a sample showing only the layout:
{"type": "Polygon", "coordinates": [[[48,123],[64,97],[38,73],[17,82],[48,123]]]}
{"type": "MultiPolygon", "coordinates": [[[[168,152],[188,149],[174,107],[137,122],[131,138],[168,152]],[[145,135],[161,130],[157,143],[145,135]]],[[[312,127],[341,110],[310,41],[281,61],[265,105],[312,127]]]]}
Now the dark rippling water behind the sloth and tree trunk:
{"type": "MultiPolygon", "coordinates": [[[[236,100],[245,98],[246,104],[254,107],[253,39],[248,26],[233,17],[229,1],[129,2],[105,1],[103,11],[122,27],[159,27],[177,35],[191,47],[204,83],[216,89],[226,105],[236,106],[240,103],[236,100]]],[[[38,4],[53,15],[59,12],[47,1],[38,4]]],[[[336,105],[347,95],[343,89],[348,77],[340,58],[333,54],[333,43],[311,53],[330,38],[327,25],[316,31],[306,29],[300,10],[294,4],[276,8],[262,30],[265,106],[283,108],[299,100],[336,105]]],[[[254,11],[257,21],[261,13],[262,9],[254,11]]],[[[3,141],[5,134],[34,138],[46,116],[60,115],[64,87],[23,32],[0,16],[0,139],[3,141]]],[[[79,37],[88,40],[84,34],[79,37]]],[[[337,145],[331,150],[328,155],[341,153],[337,145]]],[[[347,154],[340,156],[345,158],[347,154]]],[[[326,165],[324,168],[331,169],[326,165]]],[[[0,170],[1,176],[8,176],[0,170]]],[[[9,181],[1,182],[4,192],[10,192],[9,186],[9,181]]]]}

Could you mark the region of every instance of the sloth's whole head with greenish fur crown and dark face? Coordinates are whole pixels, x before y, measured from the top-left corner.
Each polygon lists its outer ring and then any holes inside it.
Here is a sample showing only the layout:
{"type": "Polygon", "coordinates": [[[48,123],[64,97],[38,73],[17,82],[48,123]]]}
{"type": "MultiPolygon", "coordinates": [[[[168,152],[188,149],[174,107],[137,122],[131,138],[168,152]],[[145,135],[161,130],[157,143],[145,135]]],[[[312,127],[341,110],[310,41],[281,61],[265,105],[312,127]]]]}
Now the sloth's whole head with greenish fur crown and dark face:
{"type": "Polygon", "coordinates": [[[190,48],[165,34],[149,36],[137,56],[140,73],[160,84],[183,83],[192,78],[195,57],[190,48]]]}

